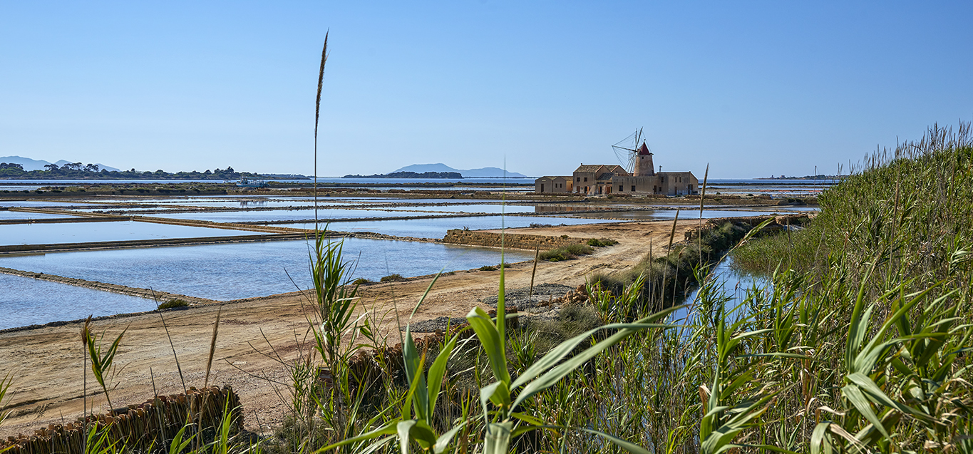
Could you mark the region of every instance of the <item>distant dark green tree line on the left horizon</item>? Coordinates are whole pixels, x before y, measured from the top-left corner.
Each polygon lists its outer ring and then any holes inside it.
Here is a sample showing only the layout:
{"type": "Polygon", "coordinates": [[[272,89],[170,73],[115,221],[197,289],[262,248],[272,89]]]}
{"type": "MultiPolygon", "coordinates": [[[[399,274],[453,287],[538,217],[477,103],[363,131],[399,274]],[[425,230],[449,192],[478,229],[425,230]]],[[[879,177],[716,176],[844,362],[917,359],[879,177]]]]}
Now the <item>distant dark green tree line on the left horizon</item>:
{"type": "Polygon", "coordinates": [[[103,180],[236,180],[239,178],[261,178],[252,172],[237,172],[233,167],[215,170],[206,169],[203,172],[169,173],[162,169],[152,171],[106,170],[98,168],[97,164],[83,164],[73,162],[64,165],[47,164],[44,170],[24,170],[23,165],[13,162],[0,162],[0,178],[19,178],[23,180],[72,180],[72,179],[103,179],[103,180]]]}

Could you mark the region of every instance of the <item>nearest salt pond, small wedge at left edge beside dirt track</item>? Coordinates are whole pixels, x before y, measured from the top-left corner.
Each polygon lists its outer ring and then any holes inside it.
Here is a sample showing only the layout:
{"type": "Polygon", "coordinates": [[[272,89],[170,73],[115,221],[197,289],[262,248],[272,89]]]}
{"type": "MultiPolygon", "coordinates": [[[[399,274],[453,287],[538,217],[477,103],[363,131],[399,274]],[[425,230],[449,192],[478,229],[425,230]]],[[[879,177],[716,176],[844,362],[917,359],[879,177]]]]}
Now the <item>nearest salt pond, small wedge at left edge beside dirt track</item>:
{"type": "Polygon", "coordinates": [[[0,274],[0,289],[0,330],[156,308],[152,299],[10,274],[0,274]]]}

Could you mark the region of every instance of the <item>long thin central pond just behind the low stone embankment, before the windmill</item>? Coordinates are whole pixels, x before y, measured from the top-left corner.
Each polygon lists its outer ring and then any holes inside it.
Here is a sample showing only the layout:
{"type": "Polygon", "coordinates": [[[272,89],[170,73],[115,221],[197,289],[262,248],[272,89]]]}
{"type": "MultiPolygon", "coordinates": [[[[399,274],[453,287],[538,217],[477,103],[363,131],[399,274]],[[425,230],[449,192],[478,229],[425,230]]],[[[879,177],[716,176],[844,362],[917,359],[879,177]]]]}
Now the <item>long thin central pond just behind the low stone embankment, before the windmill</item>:
{"type": "MultiPolygon", "coordinates": [[[[531,224],[558,226],[577,226],[584,224],[617,223],[603,219],[557,218],[553,216],[479,216],[469,218],[409,219],[394,221],[349,221],[332,223],[330,230],[372,231],[394,236],[414,236],[417,238],[442,238],[450,228],[468,227],[471,230],[503,227],[529,227],[531,224]]],[[[277,227],[314,228],[313,223],[280,224],[277,227]]]]}

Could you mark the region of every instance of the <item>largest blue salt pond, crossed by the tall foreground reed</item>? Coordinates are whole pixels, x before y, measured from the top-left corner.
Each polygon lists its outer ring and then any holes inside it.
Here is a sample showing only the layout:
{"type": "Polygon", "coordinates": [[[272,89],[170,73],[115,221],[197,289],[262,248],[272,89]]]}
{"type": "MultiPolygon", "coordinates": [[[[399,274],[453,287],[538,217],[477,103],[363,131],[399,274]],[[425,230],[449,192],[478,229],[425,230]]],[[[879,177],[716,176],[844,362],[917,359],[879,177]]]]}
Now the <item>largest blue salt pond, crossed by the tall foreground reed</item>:
{"type": "MultiPolygon", "coordinates": [[[[347,238],[343,248],[345,260],[358,262],[353,277],[374,281],[393,273],[416,276],[500,262],[498,249],[436,243],[347,238]]],[[[531,259],[526,251],[507,251],[505,257],[531,259]]],[[[211,299],[294,292],[288,274],[301,289],[309,287],[304,240],[0,256],[0,266],[211,299]]]]}

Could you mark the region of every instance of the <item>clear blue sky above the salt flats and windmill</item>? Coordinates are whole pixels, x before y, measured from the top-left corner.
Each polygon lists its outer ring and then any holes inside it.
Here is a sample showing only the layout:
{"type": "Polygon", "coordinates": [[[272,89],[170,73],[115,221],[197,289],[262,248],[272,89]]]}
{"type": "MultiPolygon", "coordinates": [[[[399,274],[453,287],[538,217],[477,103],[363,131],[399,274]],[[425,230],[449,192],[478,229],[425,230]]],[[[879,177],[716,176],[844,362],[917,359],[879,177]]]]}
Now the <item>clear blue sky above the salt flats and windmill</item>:
{"type": "Polygon", "coordinates": [[[970,2],[0,0],[0,156],[321,175],[834,173],[973,119],[970,2]]]}

